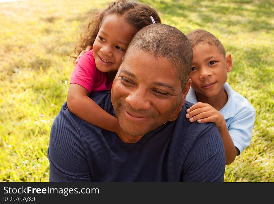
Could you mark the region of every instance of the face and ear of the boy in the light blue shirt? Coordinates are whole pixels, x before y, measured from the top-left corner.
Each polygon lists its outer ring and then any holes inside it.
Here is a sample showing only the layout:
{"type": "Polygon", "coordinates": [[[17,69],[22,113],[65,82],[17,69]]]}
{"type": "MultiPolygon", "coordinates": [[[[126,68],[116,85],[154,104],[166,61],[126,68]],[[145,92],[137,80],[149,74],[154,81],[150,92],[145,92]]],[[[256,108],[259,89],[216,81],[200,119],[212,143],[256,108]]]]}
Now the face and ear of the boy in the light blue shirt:
{"type": "Polygon", "coordinates": [[[231,55],[224,57],[208,43],[193,47],[193,61],[189,78],[196,97],[219,97],[224,92],[227,72],[232,70],[231,55]]]}

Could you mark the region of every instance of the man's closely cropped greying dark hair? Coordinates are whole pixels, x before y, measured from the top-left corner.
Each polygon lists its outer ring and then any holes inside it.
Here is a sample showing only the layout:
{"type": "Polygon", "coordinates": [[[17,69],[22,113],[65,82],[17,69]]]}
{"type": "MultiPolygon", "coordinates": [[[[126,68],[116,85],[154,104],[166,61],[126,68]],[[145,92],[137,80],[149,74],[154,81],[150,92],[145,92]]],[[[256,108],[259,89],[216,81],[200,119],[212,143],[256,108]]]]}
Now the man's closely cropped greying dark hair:
{"type": "Polygon", "coordinates": [[[155,58],[166,57],[170,60],[178,71],[182,88],[185,87],[189,79],[193,50],[190,41],[180,30],[165,24],[148,25],[135,34],[126,53],[138,50],[153,54],[155,58]]]}

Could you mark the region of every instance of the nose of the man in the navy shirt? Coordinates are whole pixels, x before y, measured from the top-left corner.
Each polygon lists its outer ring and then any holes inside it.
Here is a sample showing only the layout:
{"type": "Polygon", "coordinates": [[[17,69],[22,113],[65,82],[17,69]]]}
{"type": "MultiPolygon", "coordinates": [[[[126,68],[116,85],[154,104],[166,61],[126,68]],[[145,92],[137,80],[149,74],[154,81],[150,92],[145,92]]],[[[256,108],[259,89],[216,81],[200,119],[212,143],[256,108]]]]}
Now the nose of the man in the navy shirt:
{"type": "Polygon", "coordinates": [[[151,101],[146,90],[135,88],[125,98],[125,101],[135,110],[149,109],[151,101]]]}

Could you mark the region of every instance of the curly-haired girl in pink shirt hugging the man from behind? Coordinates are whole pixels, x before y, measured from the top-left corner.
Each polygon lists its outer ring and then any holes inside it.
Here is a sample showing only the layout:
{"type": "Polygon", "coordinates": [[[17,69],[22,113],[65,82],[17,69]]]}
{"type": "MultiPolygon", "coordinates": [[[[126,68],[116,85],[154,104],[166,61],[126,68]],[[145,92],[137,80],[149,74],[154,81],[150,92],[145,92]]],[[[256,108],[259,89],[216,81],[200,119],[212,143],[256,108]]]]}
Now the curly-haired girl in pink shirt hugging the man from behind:
{"type": "Polygon", "coordinates": [[[118,119],[88,96],[92,91],[111,89],[131,39],[140,29],[152,24],[150,16],[155,23],[161,23],[157,12],[149,6],[125,0],[112,2],[93,18],[86,36],[75,48],[79,54],[92,45],[92,50],[82,55],[73,70],[67,96],[69,110],[93,125],[115,132],[121,139],[126,133],[118,119]]]}

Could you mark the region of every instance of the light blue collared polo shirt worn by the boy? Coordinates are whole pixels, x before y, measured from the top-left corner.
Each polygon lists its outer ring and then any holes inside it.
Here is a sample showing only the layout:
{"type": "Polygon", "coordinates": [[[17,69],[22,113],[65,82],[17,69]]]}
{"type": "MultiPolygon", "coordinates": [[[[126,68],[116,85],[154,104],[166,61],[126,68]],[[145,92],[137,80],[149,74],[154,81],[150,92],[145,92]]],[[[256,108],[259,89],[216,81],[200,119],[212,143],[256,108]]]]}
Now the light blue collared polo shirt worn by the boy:
{"type": "MultiPolygon", "coordinates": [[[[224,116],[229,135],[241,154],[250,145],[256,111],[248,100],[233,91],[227,82],[224,84],[224,90],[228,100],[220,113],[224,116]]],[[[193,88],[189,89],[186,100],[194,104],[197,103],[193,88]]]]}

